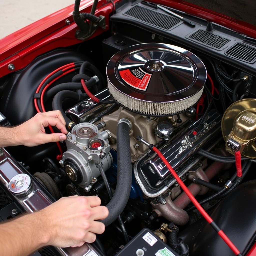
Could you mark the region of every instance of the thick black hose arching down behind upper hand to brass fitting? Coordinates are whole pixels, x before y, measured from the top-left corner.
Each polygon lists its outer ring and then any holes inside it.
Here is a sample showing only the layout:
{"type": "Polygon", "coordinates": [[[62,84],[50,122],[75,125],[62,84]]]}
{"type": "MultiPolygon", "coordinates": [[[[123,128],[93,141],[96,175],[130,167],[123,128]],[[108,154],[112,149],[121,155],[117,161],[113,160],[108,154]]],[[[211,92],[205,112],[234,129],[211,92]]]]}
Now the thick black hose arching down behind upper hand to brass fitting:
{"type": "Polygon", "coordinates": [[[65,114],[65,112],[64,112],[64,110],[63,110],[63,108],[62,108],[62,101],[63,101],[64,99],[73,99],[73,100],[79,102],[79,101],[81,101],[83,98],[84,98],[83,95],[81,95],[81,94],[79,94],[79,93],[77,93],[77,92],[72,92],[72,91],[68,91],[68,90],[60,91],[60,92],[58,92],[58,93],[54,96],[54,98],[53,98],[53,100],[52,100],[52,109],[53,109],[53,110],[60,110],[61,114],[63,115],[63,117],[64,117],[64,119],[65,119],[65,121],[66,121],[66,128],[67,128],[67,129],[69,128],[69,127],[68,127],[69,123],[70,123],[70,122],[73,122],[73,121],[70,120],[70,119],[66,116],[66,114],[65,114]]]}

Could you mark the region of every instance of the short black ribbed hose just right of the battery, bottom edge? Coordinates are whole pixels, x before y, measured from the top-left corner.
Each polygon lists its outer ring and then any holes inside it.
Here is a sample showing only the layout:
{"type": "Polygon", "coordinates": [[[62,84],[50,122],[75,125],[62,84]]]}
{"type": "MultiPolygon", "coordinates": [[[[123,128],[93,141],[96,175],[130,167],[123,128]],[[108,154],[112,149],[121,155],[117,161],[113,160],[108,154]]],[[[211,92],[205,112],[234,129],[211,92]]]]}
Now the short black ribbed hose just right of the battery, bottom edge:
{"type": "Polygon", "coordinates": [[[178,230],[172,229],[168,236],[168,243],[169,246],[174,249],[180,256],[188,256],[189,255],[189,248],[187,244],[180,238],[178,238],[178,230]]]}

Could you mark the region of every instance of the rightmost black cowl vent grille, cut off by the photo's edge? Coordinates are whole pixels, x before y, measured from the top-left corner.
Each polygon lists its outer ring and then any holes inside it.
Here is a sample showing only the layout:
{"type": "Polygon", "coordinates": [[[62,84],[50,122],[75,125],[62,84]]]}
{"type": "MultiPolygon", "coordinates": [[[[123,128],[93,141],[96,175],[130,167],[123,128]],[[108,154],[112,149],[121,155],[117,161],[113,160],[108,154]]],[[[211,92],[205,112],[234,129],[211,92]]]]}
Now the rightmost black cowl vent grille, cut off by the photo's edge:
{"type": "Polygon", "coordinates": [[[256,47],[243,43],[236,43],[226,52],[226,55],[248,63],[254,63],[256,60],[256,47]]]}

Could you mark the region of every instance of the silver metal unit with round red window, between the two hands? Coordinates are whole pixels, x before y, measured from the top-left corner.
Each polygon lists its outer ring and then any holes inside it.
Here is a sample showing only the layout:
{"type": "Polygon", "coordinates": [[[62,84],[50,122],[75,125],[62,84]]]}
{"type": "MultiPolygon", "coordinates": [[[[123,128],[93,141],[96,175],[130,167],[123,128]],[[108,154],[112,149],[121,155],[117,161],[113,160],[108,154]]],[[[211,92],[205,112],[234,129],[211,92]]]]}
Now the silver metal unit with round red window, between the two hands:
{"type": "Polygon", "coordinates": [[[95,166],[102,163],[104,171],[108,170],[113,162],[110,154],[108,138],[110,132],[99,132],[96,125],[80,123],[73,127],[67,135],[67,151],[63,153],[60,164],[72,182],[84,188],[87,192],[100,176],[95,166]]]}

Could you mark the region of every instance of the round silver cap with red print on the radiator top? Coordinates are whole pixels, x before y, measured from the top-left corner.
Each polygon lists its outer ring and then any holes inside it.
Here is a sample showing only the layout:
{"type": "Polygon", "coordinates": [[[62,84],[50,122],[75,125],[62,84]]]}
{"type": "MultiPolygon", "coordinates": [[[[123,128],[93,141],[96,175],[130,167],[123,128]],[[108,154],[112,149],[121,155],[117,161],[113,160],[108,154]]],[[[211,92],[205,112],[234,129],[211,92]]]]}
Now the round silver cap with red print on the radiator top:
{"type": "Polygon", "coordinates": [[[9,182],[9,190],[15,195],[27,194],[32,187],[32,181],[28,174],[17,174],[9,182]]]}

